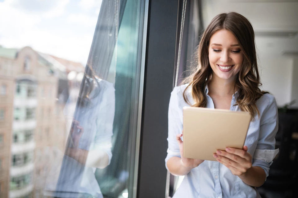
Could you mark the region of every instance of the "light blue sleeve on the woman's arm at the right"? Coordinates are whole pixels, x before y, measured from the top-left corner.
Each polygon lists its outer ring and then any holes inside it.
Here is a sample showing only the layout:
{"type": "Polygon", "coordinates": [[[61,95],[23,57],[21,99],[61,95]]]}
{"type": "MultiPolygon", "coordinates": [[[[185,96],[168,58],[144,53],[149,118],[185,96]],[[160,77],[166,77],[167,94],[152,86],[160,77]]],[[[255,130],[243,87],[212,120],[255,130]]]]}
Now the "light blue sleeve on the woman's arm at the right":
{"type": "Polygon", "coordinates": [[[275,98],[271,96],[267,108],[260,119],[260,135],[253,155],[252,166],[264,169],[266,177],[269,175],[269,167],[278,153],[275,149],[275,135],[278,131],[278,110],[275,98]]]}

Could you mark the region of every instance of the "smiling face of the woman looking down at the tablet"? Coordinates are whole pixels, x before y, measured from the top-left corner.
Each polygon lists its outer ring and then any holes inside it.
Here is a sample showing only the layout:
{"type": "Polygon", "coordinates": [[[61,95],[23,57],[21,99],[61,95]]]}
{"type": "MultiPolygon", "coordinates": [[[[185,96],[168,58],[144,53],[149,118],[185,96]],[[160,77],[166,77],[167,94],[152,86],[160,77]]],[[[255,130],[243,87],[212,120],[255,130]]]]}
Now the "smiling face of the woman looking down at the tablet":
{"type": "Polygon", "coordinates": [[[213,73],[224,80],[233,80],[243,62],[242,49],[232,32],[219,30],[210,38],[209,63],[213,73]]]}

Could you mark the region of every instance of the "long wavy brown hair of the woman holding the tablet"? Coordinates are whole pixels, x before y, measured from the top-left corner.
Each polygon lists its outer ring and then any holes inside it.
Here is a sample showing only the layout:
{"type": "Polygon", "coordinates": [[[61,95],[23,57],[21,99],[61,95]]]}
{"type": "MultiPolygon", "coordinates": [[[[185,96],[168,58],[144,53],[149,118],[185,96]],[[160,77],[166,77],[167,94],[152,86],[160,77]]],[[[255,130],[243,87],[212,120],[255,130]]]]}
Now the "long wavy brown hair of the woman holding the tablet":
{"type": "Polygon", "coordinates": [[[183,92],[183,98],[191,105],[186,96],[187,88],[191,87],[194,100],[192,106],[206,107],[205,86],[210,81],[212,74],[208,54],[209,41],[216,31],[222,29],[234,34],[244,54],[242,67],[236,77],[235,89],[237,88],[238,90],[237,104],[235,105],[238,105],[241,111],[249,112],[253,117],[256,113],[260,116],[255,102],[268,92],[260,90],[262,84],[260,83],[257,65],[255,33],[249,20],[237,12],[222,13],[215,16],[204,31],[196,50],[196,68],[182,82],[182,84],[189,83],[183,92]]]}

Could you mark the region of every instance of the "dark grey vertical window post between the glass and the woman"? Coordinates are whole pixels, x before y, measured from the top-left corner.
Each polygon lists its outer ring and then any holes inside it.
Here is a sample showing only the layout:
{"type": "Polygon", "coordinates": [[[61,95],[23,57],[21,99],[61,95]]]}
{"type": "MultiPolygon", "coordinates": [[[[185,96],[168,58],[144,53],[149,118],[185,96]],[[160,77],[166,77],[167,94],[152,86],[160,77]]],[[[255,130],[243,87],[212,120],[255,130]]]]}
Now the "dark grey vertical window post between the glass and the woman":
{"type": "Polygon", "coordinates": [[[137,192],[137,197],[142,198],[165,196],[168,107],[174,82],[178,2],[149,1],[137,192]]]}

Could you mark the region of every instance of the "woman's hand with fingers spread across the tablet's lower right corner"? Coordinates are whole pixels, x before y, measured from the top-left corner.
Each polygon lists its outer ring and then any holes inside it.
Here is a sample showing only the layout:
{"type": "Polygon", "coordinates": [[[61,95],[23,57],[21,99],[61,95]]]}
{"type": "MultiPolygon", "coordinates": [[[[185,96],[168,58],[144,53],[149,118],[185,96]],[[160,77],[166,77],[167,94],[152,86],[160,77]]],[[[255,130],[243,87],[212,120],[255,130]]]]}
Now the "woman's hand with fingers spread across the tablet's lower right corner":
{"type": "Polygon", "coordinates": [[[235,148],[226,148],[226,151],[217,150],[213,157],[237,176],[242,176],[252,166],[252,156],[247,152],[247,146],[244,146],[243,150],[235,148]]]}

